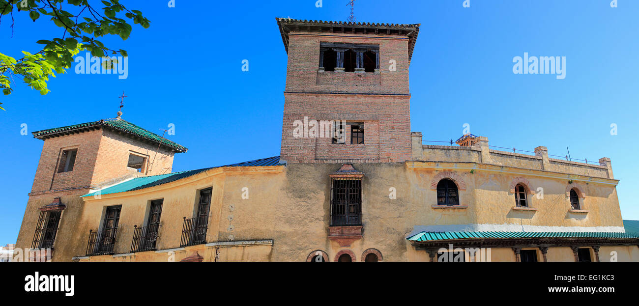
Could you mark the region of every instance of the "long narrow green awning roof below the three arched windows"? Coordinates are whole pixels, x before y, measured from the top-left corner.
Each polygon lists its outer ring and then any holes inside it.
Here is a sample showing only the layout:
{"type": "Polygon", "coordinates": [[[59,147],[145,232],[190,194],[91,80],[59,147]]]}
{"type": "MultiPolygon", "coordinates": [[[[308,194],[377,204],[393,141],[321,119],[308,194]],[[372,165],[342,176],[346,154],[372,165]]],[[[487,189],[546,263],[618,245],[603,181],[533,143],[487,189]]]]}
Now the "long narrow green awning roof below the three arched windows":
{"type": "Polygon", "coordinates": [[[612,232],[422,232],[406,238],[411,241],[435,241],[469,238],[639,238],[639,233],[612,232]]]}

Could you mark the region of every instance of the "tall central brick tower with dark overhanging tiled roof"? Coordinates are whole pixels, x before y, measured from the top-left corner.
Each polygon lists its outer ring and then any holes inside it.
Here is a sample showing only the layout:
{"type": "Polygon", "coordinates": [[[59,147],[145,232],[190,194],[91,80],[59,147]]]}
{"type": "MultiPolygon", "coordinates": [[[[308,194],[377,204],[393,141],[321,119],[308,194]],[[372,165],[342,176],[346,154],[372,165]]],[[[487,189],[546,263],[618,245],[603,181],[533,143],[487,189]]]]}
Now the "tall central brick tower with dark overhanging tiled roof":
{"type": "Polygon", "coordinates": [[[408,66],[419,24],[282,18],[277,24],[288,52],[281,159],[410,160],[408,66]]]}

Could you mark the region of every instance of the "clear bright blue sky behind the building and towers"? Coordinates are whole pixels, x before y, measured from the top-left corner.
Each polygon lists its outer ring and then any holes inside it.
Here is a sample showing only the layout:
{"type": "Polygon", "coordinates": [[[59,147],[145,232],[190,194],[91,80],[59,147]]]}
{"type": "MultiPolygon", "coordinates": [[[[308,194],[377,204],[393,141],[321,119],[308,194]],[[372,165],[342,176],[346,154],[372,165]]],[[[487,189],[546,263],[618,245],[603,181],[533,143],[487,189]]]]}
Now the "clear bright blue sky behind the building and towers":
{"type": "MultiPolygon", "coordinates": [[[[96,1],[99,2],[99,1],[96,1]]],[[[31,132],[103,118],[118,111],[152,132],[175,125],[171,140],[189,148],[174,171],[279,155],[286,52],[275,17],[346,20],[347,0],[125,1],[151,27],[130,38],[101,39],[128,51],[128,78],[76,74],[49,82],[49,95],[19,84],[0,102],[0,245],[15,243],[43,142],[31,132]],[[242,60],[249,72],[242,72],[242,60]],[[20,135],[27,124],[29,135],[20,135]]],[[[596,161],[612,158],[624,219],[639,220],[639,1],[358,0],[360,22],[420,23],[410,66],[412,130],[424,140],[457,139],[463,125],[493,146],[596,161]],[[392,3],[392,4],[389,4],[392,3]],[[565,56],[566,79],[516,75],[512,59],[565,56]],[[610,135],[615,123],[617,135],[610,135]]],[[[61,36],[47,20],[3,17],[0,52],[37,52],[61,36]]]]}

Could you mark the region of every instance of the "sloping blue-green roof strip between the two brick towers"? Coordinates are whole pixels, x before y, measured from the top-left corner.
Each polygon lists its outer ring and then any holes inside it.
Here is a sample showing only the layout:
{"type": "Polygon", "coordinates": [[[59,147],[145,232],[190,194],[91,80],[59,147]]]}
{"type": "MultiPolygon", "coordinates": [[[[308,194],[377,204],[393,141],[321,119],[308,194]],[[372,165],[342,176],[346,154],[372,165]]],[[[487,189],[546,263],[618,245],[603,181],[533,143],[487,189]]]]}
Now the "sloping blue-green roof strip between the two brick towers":
{"type": "Polygon", "coordinates": [[[111,187],[107,187],[102,190],[92,192],[90,194],[82,195],[82,197],[89,197],[91,195],[98,195],[98,194],[100,195],[117,194],[119,192],[127,192],[132,190],[140,190],[144,188],[154,187],[157,185],[169,183],[171,181],[177,181],[183,178],[188,178],[189,176],[192,176],[192,175],[198,174],[199,172],[204,172],[213,168],[258,167],[258,166],[268,166],[268,165],[281,165],[279,162],[279,156],[261,158],[258,160],[250,160],[248,162],[240,162],[237,164],[222,165],[219,167],[210,167],[210,168],[203,168],[203,169],[197,169],[197,170],[173,172],[173,173],[159,174],[159,175],[153,175],[153,176],[142,176],[141,178],[134,178],[133,180],[123,181],[122,183],[119,183],[117,185],[113,185],[111,187]]]}

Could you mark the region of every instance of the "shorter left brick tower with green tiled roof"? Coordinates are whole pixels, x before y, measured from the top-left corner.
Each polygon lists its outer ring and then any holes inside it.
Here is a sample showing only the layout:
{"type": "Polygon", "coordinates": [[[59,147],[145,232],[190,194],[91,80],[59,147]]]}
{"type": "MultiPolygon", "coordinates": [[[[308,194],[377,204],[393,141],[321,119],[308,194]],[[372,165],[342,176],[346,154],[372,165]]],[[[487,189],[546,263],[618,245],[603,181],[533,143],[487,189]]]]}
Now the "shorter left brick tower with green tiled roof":
{"type": "MultiPolygon", "coordinates": [[[[175,153],[187,148],[120,118],[33,132],[44,141],[22,219],[17,248],[31,260],[68,259],[81,250],[56,249],[55,241],[78,238],[81,195],[138,176],[171,172],[175,153]]],[[[61,243],[58,245],[73,245],[61,243]]]]}

